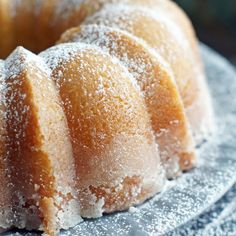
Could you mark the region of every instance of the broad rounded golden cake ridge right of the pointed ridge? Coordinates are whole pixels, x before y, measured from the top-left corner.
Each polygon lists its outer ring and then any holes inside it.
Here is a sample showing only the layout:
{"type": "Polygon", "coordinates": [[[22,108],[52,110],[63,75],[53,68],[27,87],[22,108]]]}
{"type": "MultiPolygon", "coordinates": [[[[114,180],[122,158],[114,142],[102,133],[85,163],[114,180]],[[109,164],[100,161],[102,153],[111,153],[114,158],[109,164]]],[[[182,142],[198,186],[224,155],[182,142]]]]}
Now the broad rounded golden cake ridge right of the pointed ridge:
{"type": "Polygon", "coordinates": [[[68,61],[57,55],[60,63],[52,65],[52,77],[72,138],[82,216],[121,210],[159,191],[159,153],[132,76],[96,47],[64,44],[50,50],[41,55],[49,65],[57,50],[70,55],[68,61]],[[127,177],[130,184],[124,182],[127,177]],[[132,184],[136,178],[140,181],[132,184]]]}

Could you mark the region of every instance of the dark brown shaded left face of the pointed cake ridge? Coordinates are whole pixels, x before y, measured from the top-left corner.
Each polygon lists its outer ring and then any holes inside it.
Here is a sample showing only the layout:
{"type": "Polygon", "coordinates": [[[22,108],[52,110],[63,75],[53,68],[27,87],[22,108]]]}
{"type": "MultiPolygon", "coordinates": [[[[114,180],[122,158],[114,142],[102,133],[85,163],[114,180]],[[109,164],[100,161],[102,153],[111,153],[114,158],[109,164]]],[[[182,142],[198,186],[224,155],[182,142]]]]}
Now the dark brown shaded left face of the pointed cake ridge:
{"type": "Polygon", "coordinates": [[[13,80],[7,80],[7,158],[14,193],[12,204],[24,196],[19,211],[29,206],[37,211],[38,199],[34,195],[51,197],[54,178],[48,156],[42,150],[38,108],[33,103],[32,84],[27,77],[27,72],[22,71],[13,80]],[[23,94],[26,94],[24,100],[23,94]]]}

